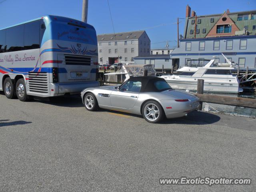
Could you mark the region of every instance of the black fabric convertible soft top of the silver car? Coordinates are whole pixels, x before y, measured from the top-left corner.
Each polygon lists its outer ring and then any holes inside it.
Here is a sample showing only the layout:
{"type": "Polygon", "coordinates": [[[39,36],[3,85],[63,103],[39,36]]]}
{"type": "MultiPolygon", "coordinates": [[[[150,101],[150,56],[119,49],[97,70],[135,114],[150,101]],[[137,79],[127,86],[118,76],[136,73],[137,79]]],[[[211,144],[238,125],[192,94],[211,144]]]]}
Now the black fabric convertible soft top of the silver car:
{"type": "Polygon", "coordinates": [[[138,76],[138,77],[130,76],[129,80],[141,82],[140,92],[162,92],[163,90],[158,90],[156,88],[154,82],[157,82],[157,81],[165,82],[163,78],[159,78],[156,76],[138,76]]]}

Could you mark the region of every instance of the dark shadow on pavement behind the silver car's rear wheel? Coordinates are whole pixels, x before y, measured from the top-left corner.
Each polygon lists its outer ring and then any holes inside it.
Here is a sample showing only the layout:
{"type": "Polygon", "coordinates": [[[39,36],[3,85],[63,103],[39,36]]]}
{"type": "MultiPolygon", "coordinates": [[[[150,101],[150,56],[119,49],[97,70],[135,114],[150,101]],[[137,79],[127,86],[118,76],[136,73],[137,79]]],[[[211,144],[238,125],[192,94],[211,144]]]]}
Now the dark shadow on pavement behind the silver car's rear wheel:
{"type": "Polygon", "coordinates": [[[193,111],[188,113],[188,115],[184,117],[166,119],[163,122],[161,122],[161,124],[176,123],[176,124],[204,125],[204,124],[212,124],[212,123],[218,122],[219,120],[220,120],[220,117],[215,114],[206,113],[202,111],[193,111]]]}

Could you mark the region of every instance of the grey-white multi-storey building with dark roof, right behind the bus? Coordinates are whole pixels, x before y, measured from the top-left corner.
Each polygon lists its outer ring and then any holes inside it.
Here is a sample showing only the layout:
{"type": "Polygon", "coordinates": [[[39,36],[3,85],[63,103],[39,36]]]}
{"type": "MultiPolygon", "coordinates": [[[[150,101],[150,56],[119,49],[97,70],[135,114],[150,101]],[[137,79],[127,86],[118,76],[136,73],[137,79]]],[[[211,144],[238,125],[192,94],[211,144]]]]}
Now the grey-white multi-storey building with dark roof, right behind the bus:
{"type": "Polygon", "coordinates": [[[150,38],[146,31],[102,34],[97,40],[100,64],[130,62],[136,56],[150,55],[150,38]]]}

